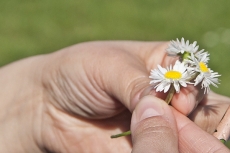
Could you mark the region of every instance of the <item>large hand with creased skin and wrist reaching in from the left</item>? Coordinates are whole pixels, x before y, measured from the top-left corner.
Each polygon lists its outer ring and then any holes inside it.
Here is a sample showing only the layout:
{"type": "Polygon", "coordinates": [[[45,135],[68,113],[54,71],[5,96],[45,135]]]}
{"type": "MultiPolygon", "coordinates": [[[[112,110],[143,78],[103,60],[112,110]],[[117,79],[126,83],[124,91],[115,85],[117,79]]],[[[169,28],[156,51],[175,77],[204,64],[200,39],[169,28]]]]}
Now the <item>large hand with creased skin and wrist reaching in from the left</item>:
{"type": "MultiPolygon", "coordinates": [[[[165,48],[165,42],[82,43],[1,68],[0,152],[130,151],[127,137],[110,135],[129,130],[141,97],[165,98],[148,78],[157,64],[176,60],[165,48]]],[[[188,115],[200,93],[183,88],[172,105],[188,115]]]]}

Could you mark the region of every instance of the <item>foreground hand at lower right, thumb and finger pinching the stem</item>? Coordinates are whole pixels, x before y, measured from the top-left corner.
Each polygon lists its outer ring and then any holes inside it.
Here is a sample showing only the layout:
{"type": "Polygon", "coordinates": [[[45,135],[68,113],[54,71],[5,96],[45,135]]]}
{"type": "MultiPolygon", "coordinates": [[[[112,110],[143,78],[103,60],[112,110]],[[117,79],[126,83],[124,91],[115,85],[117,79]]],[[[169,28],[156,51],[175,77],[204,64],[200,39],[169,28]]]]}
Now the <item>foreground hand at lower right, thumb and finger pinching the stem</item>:
{"type": "Polygon", "coordinates": [[[131,124],[133,153],[230,152],[220,140],[154,96],[137,104],[131,124]]]}

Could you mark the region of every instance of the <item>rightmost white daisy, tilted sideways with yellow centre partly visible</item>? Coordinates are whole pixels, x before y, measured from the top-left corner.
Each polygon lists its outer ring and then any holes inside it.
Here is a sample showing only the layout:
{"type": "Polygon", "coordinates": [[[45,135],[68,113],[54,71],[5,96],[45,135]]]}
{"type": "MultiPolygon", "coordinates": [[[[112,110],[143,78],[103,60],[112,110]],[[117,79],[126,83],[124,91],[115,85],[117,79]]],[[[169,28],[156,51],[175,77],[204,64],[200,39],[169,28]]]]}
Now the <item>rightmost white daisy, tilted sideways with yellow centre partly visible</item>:
{"type": "Polygon", "coordinates": [[[195,62],[194,71],[198,72],[199,75],[194,80],[194,86],[198,85],[201,82],[201,88],[204,88],[204,93],[210,91],[210,84],[215,87],[218,87],[219,84],[218,77],[221,76],[217,72],[214,72],[210,68],[208,68],[207,64],[205,63],[206,59],[201,58],[197,60],[194,56],[191,56],[195,62]]]}

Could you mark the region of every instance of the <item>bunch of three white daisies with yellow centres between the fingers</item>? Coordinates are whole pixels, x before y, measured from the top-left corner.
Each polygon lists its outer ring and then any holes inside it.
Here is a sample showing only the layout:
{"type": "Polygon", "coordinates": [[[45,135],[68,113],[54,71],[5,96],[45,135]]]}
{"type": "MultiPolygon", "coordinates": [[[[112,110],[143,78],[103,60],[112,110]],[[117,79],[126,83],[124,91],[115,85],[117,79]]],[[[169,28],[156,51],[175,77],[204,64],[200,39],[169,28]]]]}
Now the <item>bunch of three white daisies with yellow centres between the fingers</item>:
{"type": "Polygon", "coordinates": [[[208,68],[209,53],[198,50],[197,42],[189,44],[184,38],[179,41],[172,40],[166,49],[169,56],[177,56],[179,59],[174,65],[169,65],[166,68],[158,65],[156,69],[151,70],[149,78],[152,80],[156,91],[164,91],[166,93],[170,88],[177,93],[180,92],[181,86],[187,87],[187,84],[194,86],[201,83],[201,88],[204,88],[204,93],[210,91],[210,85],[217,87],[219,84],[217,72],[208,68]]]}

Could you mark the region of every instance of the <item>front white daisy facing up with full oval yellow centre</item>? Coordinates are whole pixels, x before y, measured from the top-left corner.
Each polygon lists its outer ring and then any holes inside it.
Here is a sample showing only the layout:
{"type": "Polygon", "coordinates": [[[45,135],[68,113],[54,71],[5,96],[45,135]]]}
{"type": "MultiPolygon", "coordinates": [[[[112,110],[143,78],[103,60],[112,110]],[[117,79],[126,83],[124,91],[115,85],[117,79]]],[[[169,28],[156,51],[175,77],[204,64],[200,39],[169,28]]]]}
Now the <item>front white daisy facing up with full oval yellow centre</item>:
{"type": "Polygon", "coordinates": [[[166,93],[170,86],[173,84],[177,93],[180,92],[180,85],[187,87],[190,83],[189,79],[193,75],[193,72],[188,72],[184,63],[179,60],[176,61],[175,65],[168,68],[162,68],[160,65],[157,69],[151,70],[149,78],[152,80],[150,84],[154,84],[156,91],[164,91],[166,93]]]}

